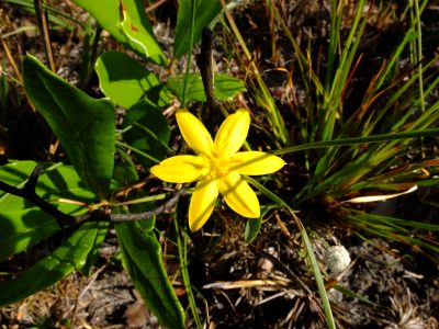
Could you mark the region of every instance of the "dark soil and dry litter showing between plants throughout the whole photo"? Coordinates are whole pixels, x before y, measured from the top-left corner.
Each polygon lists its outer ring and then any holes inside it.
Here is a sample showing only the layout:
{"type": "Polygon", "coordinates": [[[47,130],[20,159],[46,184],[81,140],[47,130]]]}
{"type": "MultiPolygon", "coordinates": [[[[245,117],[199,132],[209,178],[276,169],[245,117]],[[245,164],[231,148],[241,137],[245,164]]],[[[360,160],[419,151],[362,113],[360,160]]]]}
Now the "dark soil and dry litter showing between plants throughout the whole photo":
{"type": "MultiPolygon", "coordinates": [[[[69,1],[53,1],[78,20],[85,22],[87,13],[69,1]]],[[[155,26],[166,50],[171,53],[170,31],[175,27],[175,1],[165,1],[154,12],[155,26]],[[173,12],[173,14],[169,14],[173,12]]],[[[300,31],[305,42],[314,35],[316,44],[325,43],[324,31],[328,24],[326,1],[280,1],[284,14],[290,15],[290,27],[300,31]]],[[[375,9],[392,1],[375,1],[375,9]]],[[[434,1],[432,1],[434,2],[434,1]]],[[[397,1],[392,2],[398,11],[397,1]]],[[[371,4],[372,5],[372,4],[371,4]]],[[[257,54],[258,64],[270,91],[278,97],[279,105],[285,101],[285,77],[275,68],[289,60],[290,47],[279,37],[278,52],[272,52],[270,31],[267,25],[267,8],[262,3],[245,3],[234,10],[240,31],[251,52],[257,54]],[[239,20],[240,19],[240,20],[239,20]]],[[[438,5],[431,4],[423,24],[426,37],[426,56],[439,52],[437,32],[439,25],[438,5]]],[[[0,4],[2,34],[33,22],[33,16],[12,4],[0,4]]],[[[374,58],[385,56],[391,42],[402,35],[402,26],[389,20],[371,25],[370,44],[364,60],[371,65],[374,58]],[[370,47],[373,45],[373,47],[370,47]]],[[[42,54],[35,34],[18,34],[8,39],[16,63],[29,50],[42,54]]],[[[102,47],[111,48],[114,41],[103,35],[102,47]]],[[[57,67],[63,77],[75,83],[82,41],[75,32],[53,32],[53,44],[57,54],[57,67]]],[[[369,45],[369,46],[368,46],[369,45]]],[[[215,58],[221,61],[224,49],[217,45],[215,58]]],[[[182,64],[181,64],[182,66],[182,64]]],[[[183,66],[182,66],[183,67],[183,66]]],[[[224,66],[233,71],[234,66],[224,66]]],[[[218,65],[222,69],[222,64],[218,65]]],[[[7,72],[13,76],[10,66],[7,72]]],[[[361,78],[357,82],[361,83],[361,78]]],[[[95,83],[91,78],[91,86],[95,83]]],[[[297,94],[301,94],[300,87],[297,94]]],[[[99,91],[91,89],[99,94],[99,91]]],[[[20,99],[22,90],[13,91],[20,99]]],[[[352,95],[352,103],[360,95],[352,95]]],[[[23,101],[23,99],[21,99],[23,101]]],[[[9,129],[0,135],[2,159],[46,160],[46,146],[53,136],[43,122],[36,128],[29,128],[34,116],[29,104],[14,103],[13,112],[7,113],[1,122],[9,129]],[[25,132],[25,134],[21,134],[25,132]],[[24,140],[35,140],[30,146],[24,140]]],[[[354,104],[352,104],[354,106],[354,104]]],[[[438,223],[438,208],[427,206],[437,202],[438,188],[424,188],[397,202],[378,204],[376,213],[390,213],[426,223],[438,223]]],[[[261,231],[250,245],[245,243],[245,222],[225,207],[215,211],[216,226],[207,225],[204,232],[196,232],[190,246],[190,276],[196,291],[196,302],[205,328],[325,328],[324,313],[317,288],[296,226],[286,222],[282,213],[262,225],[261,231]]],[[[164,250],[172,253],[172,243],[166,237],[166,222],[158,218],[164,250]]],[[[213,222],[213,220],[212,220],[213,222]]],[[[416,246],[363,237],[336,219],[313,218],[306,223],[313,238],[314,251],[326,272],[325,252],[328,246],[342,245],[351,262],[347,269],[335,275],[326,275],[333,311],[338,328],[439,328],[439,254],[418,249],[416,246]]],[[[413,231],[413,236],[417,232],[413,231]]],[[[437,234],[430,238],[437,241],[437,234]]],[[[169,238],[170,239],[170,238],[169,238]]],[[[92,273],[87,276],[74,273],[55,286],[35,294],[20,303],[0,308],[1,328],[159,328],[157,318],[148,311],[130,282],[117,256],[114,232],[110,232],[100,249],[100,258],[92,273]]],[[[1,271],[20,269],[31,263],[53,246],[40,243],[25,254],[19,254],[1,271]]],[[[188,306],[185,291],[178,276],[178,263],[170,258],[167,269],[176,292],[183,306],[188,306]]],[[[1,293],[1,292],[0,292],[1,293]]],[[[195,328],[187,307],[188,328],[195,328]]]]}

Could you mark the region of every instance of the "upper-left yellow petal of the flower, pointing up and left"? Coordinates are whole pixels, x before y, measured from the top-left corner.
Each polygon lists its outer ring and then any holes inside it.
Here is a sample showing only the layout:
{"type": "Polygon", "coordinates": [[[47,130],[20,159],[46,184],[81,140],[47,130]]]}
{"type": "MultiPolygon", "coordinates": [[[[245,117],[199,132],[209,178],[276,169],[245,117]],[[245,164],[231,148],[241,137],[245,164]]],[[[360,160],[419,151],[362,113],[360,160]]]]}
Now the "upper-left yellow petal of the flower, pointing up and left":
{"type": "Polygon", "coordinates": [[[185,109],[178,110],[176,116],[188,146],[199,155],[212,155],[212,137],[201,121],[185,109]]]}

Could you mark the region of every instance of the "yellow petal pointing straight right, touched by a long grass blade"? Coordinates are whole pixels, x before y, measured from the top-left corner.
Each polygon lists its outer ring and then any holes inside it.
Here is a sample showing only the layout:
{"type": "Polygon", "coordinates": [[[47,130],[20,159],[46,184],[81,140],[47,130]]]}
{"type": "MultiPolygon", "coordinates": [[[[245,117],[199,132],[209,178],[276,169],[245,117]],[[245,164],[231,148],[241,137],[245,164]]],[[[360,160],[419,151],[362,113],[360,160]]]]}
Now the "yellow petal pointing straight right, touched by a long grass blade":
{"type": "Polygon", "coordinates": [[[272,173],[285,164],[280,157],[259,151],[238,152],[229,161],[229,170],[248,175],[272,173]]]}

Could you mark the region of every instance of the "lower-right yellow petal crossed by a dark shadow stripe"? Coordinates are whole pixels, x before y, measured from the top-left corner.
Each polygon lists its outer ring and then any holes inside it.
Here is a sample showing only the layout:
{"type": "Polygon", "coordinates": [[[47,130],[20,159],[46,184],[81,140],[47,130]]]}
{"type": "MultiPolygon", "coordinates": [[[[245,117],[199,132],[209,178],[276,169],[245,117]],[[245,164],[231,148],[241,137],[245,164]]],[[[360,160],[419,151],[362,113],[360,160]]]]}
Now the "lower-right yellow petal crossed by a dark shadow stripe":
{"type": "Polygon", "coordinates": [[[260,216],[258,197],[239,173],[232,172],[217,179],[217,185],[227,205],[236,213],[249,218],[260,216]]]}

